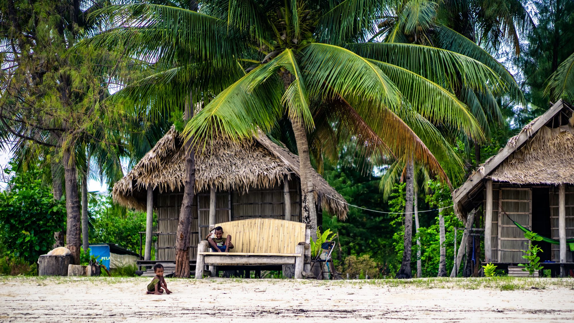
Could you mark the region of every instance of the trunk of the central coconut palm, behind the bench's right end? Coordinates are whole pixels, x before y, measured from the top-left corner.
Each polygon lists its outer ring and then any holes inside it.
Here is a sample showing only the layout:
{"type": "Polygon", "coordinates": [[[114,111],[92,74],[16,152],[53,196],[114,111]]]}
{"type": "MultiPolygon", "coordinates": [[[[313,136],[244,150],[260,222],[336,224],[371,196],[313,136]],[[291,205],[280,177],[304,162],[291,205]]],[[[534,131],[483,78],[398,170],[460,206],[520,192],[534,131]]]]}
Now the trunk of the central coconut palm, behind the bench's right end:
{"type": "MultiPolygon", "coordinates": [[[[285,90],[293,82],[293,76],[284,72],[283,84],[285,90]]],[[[309,159],[309,143],[305,124],[301,117],[291,120],[297,152],[299,155],[299,174],[301,179],[301,218],[303,223],[311,225],[311,237],[317,239],[317,210],[315,208],[315,196],[313,195],[313,167],[309,159]]]]}

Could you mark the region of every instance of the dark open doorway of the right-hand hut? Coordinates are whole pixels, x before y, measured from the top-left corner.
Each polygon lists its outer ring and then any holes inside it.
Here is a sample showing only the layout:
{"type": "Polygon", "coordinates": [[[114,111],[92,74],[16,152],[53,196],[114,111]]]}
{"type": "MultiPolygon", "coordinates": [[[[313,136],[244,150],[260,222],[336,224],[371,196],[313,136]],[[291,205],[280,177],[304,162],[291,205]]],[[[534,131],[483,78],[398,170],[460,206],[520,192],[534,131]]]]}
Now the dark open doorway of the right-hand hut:
{"type": "MultiPolygon", "coordinates": [[[[541,236],[550,237],[550,189],[533,188],[532,189],[532,230],[541,236]]],[[[540,262],[552,260],[552,246],[544,241],[537,241],[538,247],[542,252],[538,253],[540,262]]]]}

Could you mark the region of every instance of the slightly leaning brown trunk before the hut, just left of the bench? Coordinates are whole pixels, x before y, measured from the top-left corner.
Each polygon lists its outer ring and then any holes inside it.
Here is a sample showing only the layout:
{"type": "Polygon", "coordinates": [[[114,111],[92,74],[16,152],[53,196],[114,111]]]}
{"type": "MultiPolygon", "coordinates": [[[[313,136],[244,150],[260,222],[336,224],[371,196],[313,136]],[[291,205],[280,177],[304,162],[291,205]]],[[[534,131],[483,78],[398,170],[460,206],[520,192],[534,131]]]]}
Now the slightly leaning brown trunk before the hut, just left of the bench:
{"type": "MultiPolygon", "coordinates": [[[[190,120],[193,117],[193,103],[191,93],[185,102],[184,119],[190,120]]],[[[184,171],[184,191],[179,222],[177,223],[176,234],[176,277],[189,277],[189,242],[191,235],[191,218],[193,216],[193,199],[195,199],[195,152],[191,144],[193,138],[189,138],[184,143],[185,149],[185,171],[184,171]]],[[[202,273],[196,273],[201,275],[202,273]]]]}

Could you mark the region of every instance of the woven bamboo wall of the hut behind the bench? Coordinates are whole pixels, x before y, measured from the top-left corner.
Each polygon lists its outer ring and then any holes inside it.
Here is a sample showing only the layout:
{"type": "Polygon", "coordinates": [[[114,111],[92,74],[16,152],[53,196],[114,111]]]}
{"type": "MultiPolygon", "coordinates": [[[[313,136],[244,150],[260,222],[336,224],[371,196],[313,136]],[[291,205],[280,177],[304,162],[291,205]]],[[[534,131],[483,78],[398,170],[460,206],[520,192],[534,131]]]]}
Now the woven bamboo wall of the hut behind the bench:
{"type": "MultiPolygon", "coordinates": [[[[297,179],[289,181],[291,198],[291,221],[301,222],[299,183],[297,179]]],[[[175,260],[175,234],[179,222],[179,212],[183,194],[158,194],[155,207],[157,210],[158,234],[156,260],[175,260]]],[[[282,184],[269,189],[250,189],[247,193],[239,191],[218,191],[216,194],[215,221],[217,223],[247,220],[252,218],[285,219],[285,207],[282,184]]],[[[197,256],[197,243],[205,239],[209,227],[209,192],[196,195],[193,203],[191,221],[191,241],[189,259],[197,256]],[[198,203],[199,201],[199,203],[198,203]],[[198,217],[199,214],[199,217],[198,217]]],[[[227,233],[227,232],[226,232],[227,233]]],[[[303,240],[301,240],[303,241],[303,240]]],[[[297,241],[299,243],[300,241],[297,241]]],[[[294,249],[293,249],[294,250],[294,249]]]]}

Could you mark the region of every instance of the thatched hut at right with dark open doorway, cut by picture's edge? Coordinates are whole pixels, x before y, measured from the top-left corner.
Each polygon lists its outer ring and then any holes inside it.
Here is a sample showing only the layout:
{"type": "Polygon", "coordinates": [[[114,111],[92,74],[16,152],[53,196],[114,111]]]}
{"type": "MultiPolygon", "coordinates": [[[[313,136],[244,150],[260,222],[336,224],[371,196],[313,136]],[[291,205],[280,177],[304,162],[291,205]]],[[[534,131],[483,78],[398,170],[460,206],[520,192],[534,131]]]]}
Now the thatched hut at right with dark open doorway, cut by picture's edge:
{"type": "Polygon", "coordinates": [[[573,112],[567,102],[552,105],[453,192],[461,220],[474,209],[476,221],[484,221],[485,262],[525,262],[522,226],[555,240],[539,243],[541,261],[560,263],[562,275],[573,267],[566,249],[574,237],[573,112]]]}

